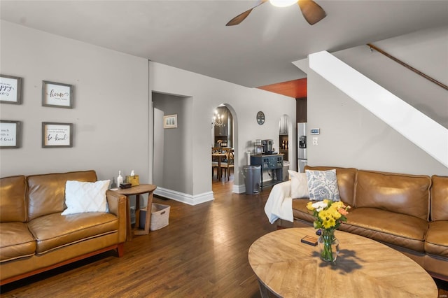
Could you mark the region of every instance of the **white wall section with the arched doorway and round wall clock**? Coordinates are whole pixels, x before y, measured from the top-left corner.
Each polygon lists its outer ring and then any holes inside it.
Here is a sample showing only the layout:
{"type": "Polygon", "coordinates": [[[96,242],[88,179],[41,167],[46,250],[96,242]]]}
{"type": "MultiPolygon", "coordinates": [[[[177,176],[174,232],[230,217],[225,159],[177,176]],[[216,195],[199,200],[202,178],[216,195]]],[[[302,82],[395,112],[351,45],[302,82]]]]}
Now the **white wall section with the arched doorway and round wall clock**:
{"type": "MultiPolygon", "coordinates": [[[[164,64],[151,62],[150,90],[193,99],[193,129],[189,133],[189,137],[193,140],[193,157],[183,155],[185,158],[193,158],[191,171],[184,173],[193,177],[193,197],[200,197],[211,191],[210,146],[213,141],[210,128],[216,106],[228,105],[234,116],[235,173],[237,173],[234,191],[236,192],[241,189],[241,185],[244,185],[241,170],[242,166],[246,165],[245,152],[253,151],[253,141],[278,140],[279,120],[283,114],[288,115],[291,122],[295,123],[293,98],[242,87],[164,64]],[[265,125],[257,124],[255,116],[258,111],[265,113],[265,125]]],[[[295,135],[294,130],[293,140],[290,140],[290,143],[295,143],[295,135]]],[[[274,147],[279,148],[279,144],[275,143],[274,147]]],[[[295,169],[296,162],[293,160],[290,166],[295,169]]]]}

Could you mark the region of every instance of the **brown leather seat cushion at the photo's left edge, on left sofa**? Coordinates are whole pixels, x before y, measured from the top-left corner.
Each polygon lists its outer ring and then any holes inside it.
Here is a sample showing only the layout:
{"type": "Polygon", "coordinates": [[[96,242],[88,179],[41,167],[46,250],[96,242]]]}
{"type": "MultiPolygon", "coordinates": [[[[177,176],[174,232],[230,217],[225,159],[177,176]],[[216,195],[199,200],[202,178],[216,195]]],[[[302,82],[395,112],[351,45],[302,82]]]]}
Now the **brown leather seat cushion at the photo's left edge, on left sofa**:
{"type": "Polygon", "coordinates": [[[29,257],[36,251],[36,241],[25,222],[0,223],[0,262],[29,257]]]}

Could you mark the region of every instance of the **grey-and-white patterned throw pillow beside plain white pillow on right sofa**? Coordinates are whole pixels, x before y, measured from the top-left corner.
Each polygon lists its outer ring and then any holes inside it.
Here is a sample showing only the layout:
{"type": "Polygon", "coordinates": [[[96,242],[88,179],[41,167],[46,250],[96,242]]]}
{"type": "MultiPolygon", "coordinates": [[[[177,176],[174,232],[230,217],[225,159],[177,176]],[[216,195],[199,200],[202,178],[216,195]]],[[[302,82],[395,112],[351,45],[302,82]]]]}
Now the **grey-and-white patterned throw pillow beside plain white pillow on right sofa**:
{"type": "Polygon", "coordinates": [[[305,170],[305,172],[307,173],[310,200],[322,201],[323,199],[329,199],[331,201],[340,201],[335,169],[328,171],[305,170]]]}

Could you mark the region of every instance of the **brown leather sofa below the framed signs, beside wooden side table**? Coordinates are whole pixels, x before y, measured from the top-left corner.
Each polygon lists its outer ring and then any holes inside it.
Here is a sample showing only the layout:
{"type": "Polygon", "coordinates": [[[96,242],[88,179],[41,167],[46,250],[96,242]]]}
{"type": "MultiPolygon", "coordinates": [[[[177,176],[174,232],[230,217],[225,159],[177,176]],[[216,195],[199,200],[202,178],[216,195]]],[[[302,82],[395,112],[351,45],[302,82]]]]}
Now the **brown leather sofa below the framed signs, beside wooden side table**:
{"type": "Polygon", "coordinates": [[[109,213],[61,215],[67,180],[97,181],[95,171],[0,179],[0,284],[107,250],[123,255],[126,197],[108,190],[109,213]]]}

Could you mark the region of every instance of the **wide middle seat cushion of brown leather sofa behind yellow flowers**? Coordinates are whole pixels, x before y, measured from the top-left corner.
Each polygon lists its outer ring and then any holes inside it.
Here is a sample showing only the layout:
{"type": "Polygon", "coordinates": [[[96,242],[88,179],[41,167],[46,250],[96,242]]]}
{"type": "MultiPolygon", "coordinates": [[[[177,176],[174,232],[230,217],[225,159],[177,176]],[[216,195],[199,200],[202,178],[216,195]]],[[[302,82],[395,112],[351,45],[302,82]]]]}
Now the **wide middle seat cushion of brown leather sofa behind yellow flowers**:
{"type": "Polygon", "coordinates": [[[428,222],[377,208],[353,208],[339,229],[423,253],[428,222]]]}

